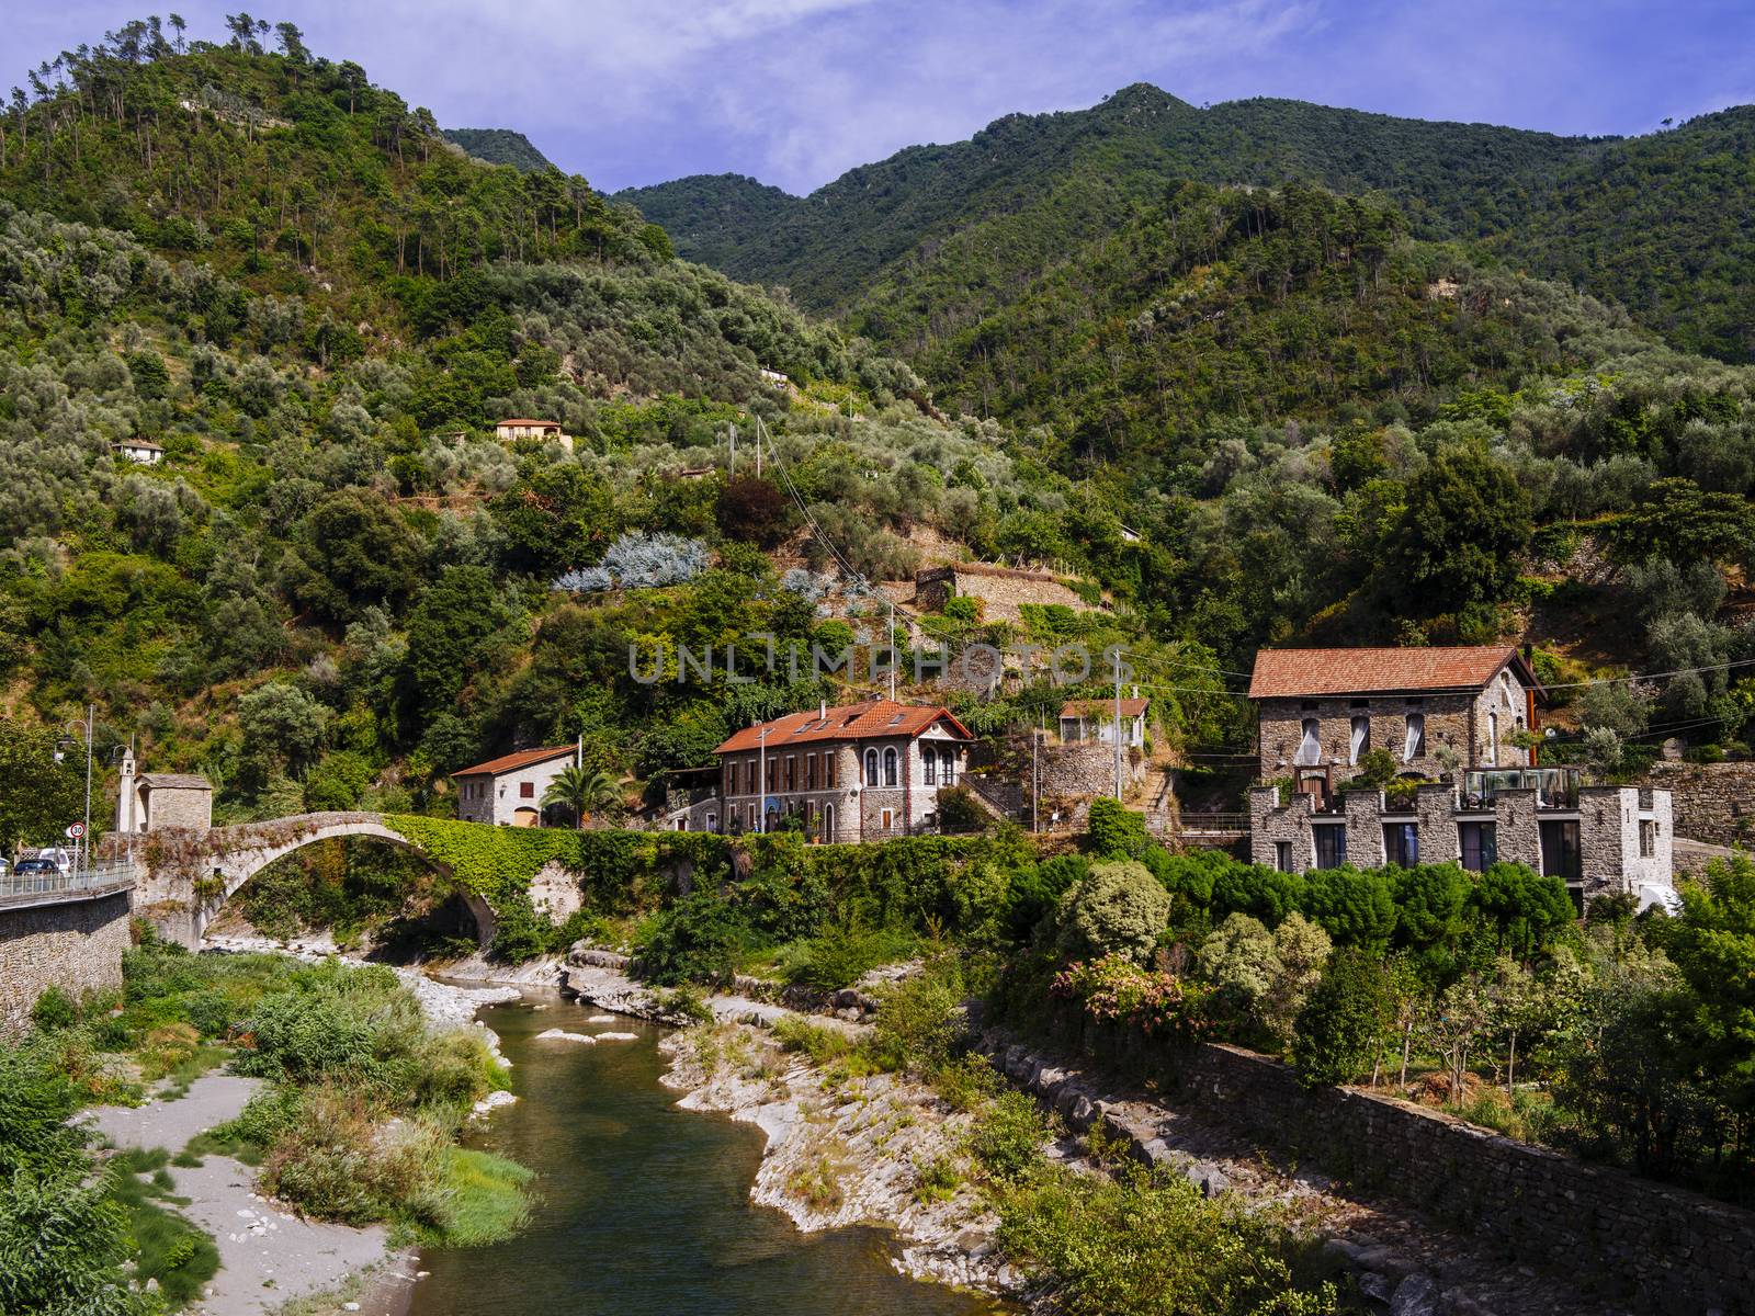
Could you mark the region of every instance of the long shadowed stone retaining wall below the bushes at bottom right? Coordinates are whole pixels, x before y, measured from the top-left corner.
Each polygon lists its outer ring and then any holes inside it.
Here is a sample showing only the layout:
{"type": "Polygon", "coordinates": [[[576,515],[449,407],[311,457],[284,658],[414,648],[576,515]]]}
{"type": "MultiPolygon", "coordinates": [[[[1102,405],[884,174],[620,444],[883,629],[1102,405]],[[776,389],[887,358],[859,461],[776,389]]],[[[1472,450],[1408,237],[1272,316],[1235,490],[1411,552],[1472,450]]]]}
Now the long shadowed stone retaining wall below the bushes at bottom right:
{"type": "MultiPolygon", "coordinates": [[[[1755,1311],[1755,1212],[1392,1097],[1313,1091],[1290,1067],[1243,1048],[1202,1044],[1176,1056],[1116,1028],[1062,1032],[1078,1033],[1079,1049],[1104,1063],[1174,1076],[1204,1109],[1271,1146],[1450,1219],[1513,1256],[1578,1269],[1595,1290],[1664,1316],[1755,1311]]],[[[1104,1118],[1095,1093],[1057,1091],[1049,1100],[1083,1123],[1104,1118]]]]}

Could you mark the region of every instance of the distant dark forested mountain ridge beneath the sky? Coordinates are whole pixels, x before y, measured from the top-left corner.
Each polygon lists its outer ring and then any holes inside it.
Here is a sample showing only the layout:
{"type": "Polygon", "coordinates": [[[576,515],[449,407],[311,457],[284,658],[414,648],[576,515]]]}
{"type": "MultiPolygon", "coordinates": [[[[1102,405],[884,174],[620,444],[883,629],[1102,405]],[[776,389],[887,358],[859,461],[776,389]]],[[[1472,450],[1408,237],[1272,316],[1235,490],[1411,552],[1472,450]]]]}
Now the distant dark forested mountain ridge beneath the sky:
{"type": "Polygon", "coordinates": [[[1381,191],[1418,237],[1488,239],[1678,346],[1748,360],[1755,312],[1736,288],[1755,268],[1751,133],[1751,107],[1616,140],[1271,98],[1195,109],[1137,84],[1088,111],[1013,114],[969,142],[909,147],[807,198],[735,175],[620,197],[683,254],[918,351],[939,333],[941,302],[1006,304],[1183,181],[1381,191]],[[925,295],[895,291],[921,281],[925,295]]]}

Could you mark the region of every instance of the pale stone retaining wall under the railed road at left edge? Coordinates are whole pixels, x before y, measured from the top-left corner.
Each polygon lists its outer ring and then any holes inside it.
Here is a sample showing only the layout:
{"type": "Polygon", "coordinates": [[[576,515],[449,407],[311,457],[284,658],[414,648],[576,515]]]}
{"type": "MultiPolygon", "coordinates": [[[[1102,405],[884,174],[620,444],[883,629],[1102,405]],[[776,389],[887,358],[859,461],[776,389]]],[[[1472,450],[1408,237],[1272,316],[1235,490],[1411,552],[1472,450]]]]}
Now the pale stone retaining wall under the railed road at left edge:
{"type": "Polygon", "coordinates": [[[0,1037],[25,1032],[30,1007],[51,986],[75,1000],[119,988],[125,949],[128,891],[0,907],[0,1037]]]}

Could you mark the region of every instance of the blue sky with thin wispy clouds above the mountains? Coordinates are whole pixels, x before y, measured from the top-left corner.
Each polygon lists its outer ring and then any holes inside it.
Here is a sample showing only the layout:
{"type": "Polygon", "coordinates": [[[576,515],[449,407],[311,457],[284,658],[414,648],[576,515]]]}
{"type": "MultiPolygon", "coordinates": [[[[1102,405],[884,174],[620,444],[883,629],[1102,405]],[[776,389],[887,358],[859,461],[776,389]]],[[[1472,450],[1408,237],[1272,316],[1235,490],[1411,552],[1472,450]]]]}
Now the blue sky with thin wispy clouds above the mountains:
{"type": "MultiPolygon", "coordinates": [[[[233,4],[181,0],[221,39],[233,4]]],[[[0,75],[97,40],[142,0],[25,0],[0,75]]],[[[604,190],[753,174],[809,191],[1013,111],[1128,82],[1639,133],[1755,102],[1750,0],[281,0],[305,42],[446,126],[525,132],[604,190]]]]}

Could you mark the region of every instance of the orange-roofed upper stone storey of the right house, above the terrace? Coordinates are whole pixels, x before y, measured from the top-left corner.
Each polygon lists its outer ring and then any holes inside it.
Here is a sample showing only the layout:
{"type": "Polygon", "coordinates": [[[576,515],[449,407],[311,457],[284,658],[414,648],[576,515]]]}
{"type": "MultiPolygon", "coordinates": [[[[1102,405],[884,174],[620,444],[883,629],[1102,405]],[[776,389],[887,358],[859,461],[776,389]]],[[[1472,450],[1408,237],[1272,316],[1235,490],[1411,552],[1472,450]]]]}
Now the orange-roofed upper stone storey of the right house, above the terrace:
{"type": "Polygon", "coordinates": [[[1511,646],[1262,649],[1250,681],[1260,776],[1332,793],[1369,749],[1388,749],[1408,777],[1437,777],[1451,756],[1469,769],[1530,763],[1511,739],[1536,730],[1537,693],[1511,646]]]}

